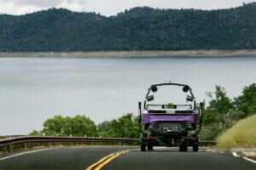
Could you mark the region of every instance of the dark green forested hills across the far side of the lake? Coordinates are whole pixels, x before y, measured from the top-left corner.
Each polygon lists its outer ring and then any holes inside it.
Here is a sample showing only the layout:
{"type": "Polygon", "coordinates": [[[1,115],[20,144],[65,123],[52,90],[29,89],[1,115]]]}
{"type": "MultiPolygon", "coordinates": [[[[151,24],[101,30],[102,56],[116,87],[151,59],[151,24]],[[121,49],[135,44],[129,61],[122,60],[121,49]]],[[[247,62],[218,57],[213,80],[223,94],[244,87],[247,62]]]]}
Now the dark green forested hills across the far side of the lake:
{"type": "Polygon", "coordinates": [[[116,16],[51,8],[0,14],[0,51],[255,49],[256,3],[219,10],[131,8],[116,16]]]}

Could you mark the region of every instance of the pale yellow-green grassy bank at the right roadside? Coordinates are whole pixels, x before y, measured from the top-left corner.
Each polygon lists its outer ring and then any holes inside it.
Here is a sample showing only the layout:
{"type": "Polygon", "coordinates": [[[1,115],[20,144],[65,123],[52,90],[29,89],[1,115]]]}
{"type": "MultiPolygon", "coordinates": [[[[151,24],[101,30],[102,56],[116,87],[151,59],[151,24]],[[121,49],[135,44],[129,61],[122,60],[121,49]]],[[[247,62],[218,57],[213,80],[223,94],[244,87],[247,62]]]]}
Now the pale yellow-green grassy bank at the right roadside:
{"type": "Polygon", "coordinates": [[[256,115],[242,119],[218,136],[217,146],[226,149],[256,147],[256,115]]]}

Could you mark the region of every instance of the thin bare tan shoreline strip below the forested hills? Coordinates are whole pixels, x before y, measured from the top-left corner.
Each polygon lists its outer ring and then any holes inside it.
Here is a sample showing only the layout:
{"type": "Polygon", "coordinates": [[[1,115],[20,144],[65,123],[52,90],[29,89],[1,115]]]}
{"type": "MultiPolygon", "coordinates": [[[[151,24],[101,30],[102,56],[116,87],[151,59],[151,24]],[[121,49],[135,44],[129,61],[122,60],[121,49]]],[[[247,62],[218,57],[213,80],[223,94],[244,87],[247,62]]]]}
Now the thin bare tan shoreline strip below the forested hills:
{"type": "Polygon", "coordinates": [[[132,57],[232,57],[254,56],[256,49],[179,51],[95,51],[95,52],[0,52],[0,58],[132,58],[132,57]]]}

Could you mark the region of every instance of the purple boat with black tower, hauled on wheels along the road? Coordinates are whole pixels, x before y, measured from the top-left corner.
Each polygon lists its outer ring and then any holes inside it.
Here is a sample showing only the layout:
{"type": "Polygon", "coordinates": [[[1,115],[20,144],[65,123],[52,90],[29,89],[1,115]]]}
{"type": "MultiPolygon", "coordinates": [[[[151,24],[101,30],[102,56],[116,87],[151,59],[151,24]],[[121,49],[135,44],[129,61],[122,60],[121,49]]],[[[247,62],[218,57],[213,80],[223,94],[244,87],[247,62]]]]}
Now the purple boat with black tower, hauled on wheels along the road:
{"type": "Polygon", "coordinates": [[[148,88],[143,109],[141,102],[138,106],[142,151],[146,148],[153,150],[154,146],[179,146],[180,151],[187,151],[188,146],[192,146],[193,151],[199,150],[198,133],[201,130],[203,104],[200,103],[198,111],[189,85],[171,82],[153,84],[148,88]],[[168,88],[174,88],[174,91],[172,89],[172,93],[167,94],[168,88]],[[158,91],[160,95],[156,95],[158,91]],[[154,102],[164,95],[167,102],[154,102]],[[171,97],[177,99],[177,103],[170,102],[171,97]],[[198,129],[197,122],[200,125],[198,129]]]}

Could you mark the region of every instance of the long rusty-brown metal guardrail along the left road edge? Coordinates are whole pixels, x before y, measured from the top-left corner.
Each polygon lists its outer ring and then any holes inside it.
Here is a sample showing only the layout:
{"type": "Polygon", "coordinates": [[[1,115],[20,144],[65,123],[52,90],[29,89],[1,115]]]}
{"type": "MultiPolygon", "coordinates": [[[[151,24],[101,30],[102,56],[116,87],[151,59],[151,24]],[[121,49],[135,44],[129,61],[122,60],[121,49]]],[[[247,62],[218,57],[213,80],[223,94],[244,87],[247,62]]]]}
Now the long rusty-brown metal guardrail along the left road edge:
{"type": "Polygon", "coordinates": [[[67,145],[132,145],[138,144],[138,142],[138,139],[121,138],[22,136],[11,139],[0,139],[0,155],[19,150],[31,150],[44,147],[67,145]]]}

